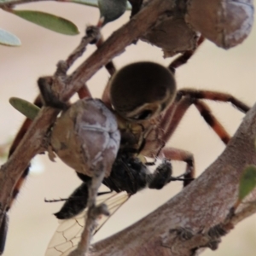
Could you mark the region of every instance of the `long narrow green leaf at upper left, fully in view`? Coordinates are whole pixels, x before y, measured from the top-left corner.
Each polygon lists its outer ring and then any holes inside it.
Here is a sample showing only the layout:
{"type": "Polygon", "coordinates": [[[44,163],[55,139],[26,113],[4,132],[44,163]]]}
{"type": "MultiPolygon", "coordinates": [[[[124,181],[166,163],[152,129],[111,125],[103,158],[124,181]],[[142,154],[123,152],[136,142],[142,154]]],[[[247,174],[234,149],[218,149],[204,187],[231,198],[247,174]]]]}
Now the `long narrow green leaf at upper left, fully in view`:
{"type": "Polygon", "coordinates": [[[55,15],[31,10],[13,10],[12,13],[54,32],[71,36],[79,34],[79,29],[73,22],[55,15]]]}

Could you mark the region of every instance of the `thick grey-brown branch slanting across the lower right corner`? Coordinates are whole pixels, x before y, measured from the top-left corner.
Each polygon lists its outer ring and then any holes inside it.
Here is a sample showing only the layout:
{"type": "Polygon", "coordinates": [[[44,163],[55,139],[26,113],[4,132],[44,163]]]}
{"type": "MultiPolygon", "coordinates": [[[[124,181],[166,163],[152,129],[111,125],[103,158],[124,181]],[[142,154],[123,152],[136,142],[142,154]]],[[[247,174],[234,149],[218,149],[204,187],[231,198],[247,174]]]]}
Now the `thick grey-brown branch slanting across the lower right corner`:
{"type": "Polygon", "coordinates": [[[136,224],[97,242],[90,256],[189,256],[195,255],[199,247],[216,249],[220,236],[256,212],[254,189],[247,198],[253,202],[241,203],[229,218],[237,200],[241,172],[247,165],[256,165],[255,137],[256,104],[223,154],[200,177],[136,224]]]}

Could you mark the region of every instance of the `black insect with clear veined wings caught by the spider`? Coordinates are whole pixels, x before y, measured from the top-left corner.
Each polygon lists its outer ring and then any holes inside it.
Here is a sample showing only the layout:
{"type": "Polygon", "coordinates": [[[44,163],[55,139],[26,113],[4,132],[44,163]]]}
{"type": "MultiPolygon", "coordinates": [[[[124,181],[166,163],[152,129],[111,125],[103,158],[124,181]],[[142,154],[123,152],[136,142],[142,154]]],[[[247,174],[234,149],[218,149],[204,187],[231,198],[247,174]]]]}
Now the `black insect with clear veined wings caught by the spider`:
{"type": "MultiPolygon", "coordinates": [[[[83,183],[73,191],[61,210],[55,213],[56,218],[61,219],[61,224],[49,242],[45,256],[68,255],[80,241],[91,178],[80,173],[78,175],[83,183]]],[[[112,216],[137,191],[145,188],[162,189],[171,181],[184,180],[182,176],[172,177],[172,165],[168,160],[162,160],[160,166],[151,173],[147,163],[144,164],[137,157],[131,157],[131,154],[119,153],[113,163],[110,176],[105,177],[102,182],[110,191],[99,193],[97,203],[106,203],[112,216]]],[[[95,234],[108,218],[102,217],[99,220],[95,234]]]]}

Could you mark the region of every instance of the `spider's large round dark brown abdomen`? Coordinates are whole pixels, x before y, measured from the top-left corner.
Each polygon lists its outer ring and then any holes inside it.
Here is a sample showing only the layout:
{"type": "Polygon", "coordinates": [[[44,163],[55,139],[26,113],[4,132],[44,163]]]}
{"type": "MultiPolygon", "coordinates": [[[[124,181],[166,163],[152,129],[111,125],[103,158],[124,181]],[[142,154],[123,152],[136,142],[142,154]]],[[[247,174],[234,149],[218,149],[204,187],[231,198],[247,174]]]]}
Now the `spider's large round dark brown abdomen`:
{"type": "Polygon", "coordinates": [[[110,79],[114,110],[132,122],[158,116],[173,102],[175,91],[172,72],[154,62],[125,66],[110,79]]]}

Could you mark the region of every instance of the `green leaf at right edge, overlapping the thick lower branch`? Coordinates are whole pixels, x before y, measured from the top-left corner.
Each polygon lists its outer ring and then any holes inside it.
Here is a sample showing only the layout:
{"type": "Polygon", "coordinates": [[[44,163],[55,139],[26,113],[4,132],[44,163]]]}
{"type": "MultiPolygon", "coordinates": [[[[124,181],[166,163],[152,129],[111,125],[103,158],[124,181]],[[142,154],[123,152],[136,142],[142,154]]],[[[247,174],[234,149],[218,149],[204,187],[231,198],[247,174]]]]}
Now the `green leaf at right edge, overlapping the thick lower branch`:
{"type": "Polygon", "coordinates": [[[256,187],[256,166],[247,166],[241,174],[238,198],[242,201],[256,187]]]}

